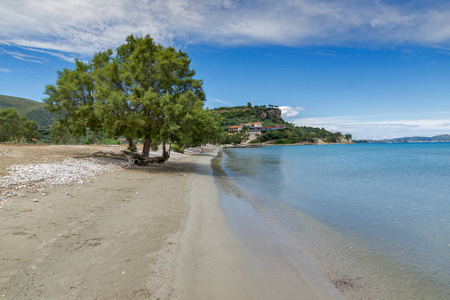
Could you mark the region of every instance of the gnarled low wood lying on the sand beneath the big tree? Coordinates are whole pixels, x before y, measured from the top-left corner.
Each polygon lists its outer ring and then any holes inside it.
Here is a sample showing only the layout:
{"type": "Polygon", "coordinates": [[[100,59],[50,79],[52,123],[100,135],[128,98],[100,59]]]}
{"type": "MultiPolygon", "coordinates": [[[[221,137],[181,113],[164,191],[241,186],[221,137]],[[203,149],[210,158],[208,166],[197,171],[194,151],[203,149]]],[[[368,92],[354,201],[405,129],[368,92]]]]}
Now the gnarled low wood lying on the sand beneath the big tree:
{"type": "Polygon", "coordinates": [[[110,157],[114,159],[122,159],[128,161],[128,166],[135,164],[138,166],[147,166],[149,164],[162,164],[166,160],[169,159],[170,154],[168,152],[164,152],[162,156],[158,157],[149,157],[149,156],[142,156],[139,153],[132,152],[132,151],[126,151],[121,150],[120,153],[114,153],[114,152],[103,152],[103,151],[97,151],[93,152],[91,154],[81,154],[81,155],[72,155],[73,158],[85,158],[85,157],[110,157]]]}

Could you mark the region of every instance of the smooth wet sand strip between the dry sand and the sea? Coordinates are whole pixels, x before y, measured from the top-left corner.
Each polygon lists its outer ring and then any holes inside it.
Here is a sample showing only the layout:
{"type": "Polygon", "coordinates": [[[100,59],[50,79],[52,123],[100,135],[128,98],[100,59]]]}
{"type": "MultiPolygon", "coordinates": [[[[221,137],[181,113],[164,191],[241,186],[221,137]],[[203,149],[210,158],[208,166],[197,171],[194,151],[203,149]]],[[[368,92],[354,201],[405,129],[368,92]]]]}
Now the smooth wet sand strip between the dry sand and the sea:
{"type": "Polygon", "coordinates": [[[218,151],[197,161],[170,299],[344,299],[242,203],[222,203],[211,166],[218,151]]]}

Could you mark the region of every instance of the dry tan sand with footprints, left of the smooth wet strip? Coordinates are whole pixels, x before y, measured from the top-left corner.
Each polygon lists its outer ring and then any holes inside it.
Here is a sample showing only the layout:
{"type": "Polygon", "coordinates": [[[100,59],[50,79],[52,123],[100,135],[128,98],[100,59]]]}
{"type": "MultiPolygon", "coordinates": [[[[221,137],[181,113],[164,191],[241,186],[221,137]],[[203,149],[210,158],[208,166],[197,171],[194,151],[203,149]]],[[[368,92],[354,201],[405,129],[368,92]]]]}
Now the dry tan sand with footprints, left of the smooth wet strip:
{"type": "Polygon", "coordinates": [[[156,299],[196,160],[12,197],[0,209],[0,299],[156,299]]]}

